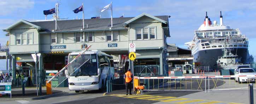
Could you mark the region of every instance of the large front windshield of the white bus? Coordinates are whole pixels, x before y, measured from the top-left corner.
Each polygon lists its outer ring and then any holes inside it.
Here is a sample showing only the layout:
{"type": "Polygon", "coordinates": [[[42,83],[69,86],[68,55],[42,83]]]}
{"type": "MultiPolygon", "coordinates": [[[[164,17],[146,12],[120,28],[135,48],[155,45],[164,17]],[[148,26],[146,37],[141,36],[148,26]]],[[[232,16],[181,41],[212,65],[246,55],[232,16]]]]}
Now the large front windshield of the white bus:
{"type": "MultiPolygon", "coordinates": [[[[73,60],[77,55],[70,55],[69,61],[73,60]]],[[[70,76],[96,76],[98,75],[96,54],[91,54],[91,61],[87,61],[79,69],[75,69],[75,72],[70,74],[70,76]]]]}

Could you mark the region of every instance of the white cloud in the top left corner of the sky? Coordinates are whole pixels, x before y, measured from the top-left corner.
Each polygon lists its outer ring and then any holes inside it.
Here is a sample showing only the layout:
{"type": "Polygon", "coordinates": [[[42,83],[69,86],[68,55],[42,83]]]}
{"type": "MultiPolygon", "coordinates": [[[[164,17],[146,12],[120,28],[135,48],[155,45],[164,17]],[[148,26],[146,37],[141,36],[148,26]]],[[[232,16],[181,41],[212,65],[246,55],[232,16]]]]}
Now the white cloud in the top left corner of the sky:
{"type": "Polygon", "coordinates": [[[34,7],[34,1],[31,0],[1,0],[0,16],[10,15],[13,12],[25,12],[34,7]]]}

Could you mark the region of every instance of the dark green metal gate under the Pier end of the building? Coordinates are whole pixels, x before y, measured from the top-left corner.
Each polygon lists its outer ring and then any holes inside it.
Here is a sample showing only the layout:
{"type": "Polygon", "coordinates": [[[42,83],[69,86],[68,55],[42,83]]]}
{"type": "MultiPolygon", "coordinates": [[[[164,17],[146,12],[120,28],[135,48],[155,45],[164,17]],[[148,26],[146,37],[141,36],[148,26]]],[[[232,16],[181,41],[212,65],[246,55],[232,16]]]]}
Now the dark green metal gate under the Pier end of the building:
{"type": "Polygon", "coordinates": [[[159,76],[159,65],[136,65],[134,66],[134,76],[149,77],[159,76]]]}

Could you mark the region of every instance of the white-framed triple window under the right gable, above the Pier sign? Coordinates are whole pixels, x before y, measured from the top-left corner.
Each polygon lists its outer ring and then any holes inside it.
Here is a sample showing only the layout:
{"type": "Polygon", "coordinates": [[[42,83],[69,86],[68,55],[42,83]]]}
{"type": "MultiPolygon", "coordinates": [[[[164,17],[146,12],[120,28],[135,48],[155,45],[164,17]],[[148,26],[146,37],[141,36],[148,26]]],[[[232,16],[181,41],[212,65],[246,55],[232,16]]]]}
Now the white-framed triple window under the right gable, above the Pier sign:
{"type": "Polygon", "coordinates": [[[136,40],[156,39],[156,28],[136,28],[136,40]]]}

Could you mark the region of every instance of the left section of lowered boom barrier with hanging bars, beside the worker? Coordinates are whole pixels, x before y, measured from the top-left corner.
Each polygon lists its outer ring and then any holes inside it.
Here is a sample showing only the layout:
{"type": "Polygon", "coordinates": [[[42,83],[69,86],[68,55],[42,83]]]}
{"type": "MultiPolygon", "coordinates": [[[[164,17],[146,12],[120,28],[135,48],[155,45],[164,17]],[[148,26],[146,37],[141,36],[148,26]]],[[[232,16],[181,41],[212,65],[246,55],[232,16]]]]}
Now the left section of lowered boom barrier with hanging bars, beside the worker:
{"type": "Polygon", "coordinates": [[[206,92],[206,76],[189,77],[135,77],[148,91],[203,91],[206,92]]]}

